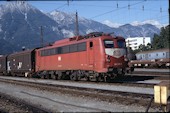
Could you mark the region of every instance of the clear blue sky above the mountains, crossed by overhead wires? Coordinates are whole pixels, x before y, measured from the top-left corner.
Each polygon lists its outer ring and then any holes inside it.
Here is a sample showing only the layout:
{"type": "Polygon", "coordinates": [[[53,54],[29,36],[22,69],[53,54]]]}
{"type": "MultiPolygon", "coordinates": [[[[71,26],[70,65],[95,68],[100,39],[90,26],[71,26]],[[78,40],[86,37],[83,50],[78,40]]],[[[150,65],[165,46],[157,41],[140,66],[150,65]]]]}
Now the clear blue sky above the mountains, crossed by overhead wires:
{"type": "MultiPolygon", "coordinates": [[[[169,24],[168,0],[51,0],[27,1],[43,12],[59,10],[109,25],[152,22],[169,24]],[[155,22],[156,21],[156,22],[155,22]]],[[[5,3],[5,1],[0,4],[5,3]]]]}

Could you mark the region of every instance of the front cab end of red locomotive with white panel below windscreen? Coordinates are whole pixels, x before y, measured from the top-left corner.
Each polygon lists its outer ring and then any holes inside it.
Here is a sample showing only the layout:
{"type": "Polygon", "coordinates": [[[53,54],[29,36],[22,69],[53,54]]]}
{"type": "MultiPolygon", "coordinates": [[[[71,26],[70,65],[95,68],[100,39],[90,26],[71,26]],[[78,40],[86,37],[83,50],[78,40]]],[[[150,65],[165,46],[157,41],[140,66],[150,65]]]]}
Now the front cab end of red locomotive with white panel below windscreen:
{"type": "Polygon", "coordinates": [[[105,68],[110,76],[124,75],[126,62],[126,45],[122,37],[104,39],[104,52],[106,56],[105,68]]]}

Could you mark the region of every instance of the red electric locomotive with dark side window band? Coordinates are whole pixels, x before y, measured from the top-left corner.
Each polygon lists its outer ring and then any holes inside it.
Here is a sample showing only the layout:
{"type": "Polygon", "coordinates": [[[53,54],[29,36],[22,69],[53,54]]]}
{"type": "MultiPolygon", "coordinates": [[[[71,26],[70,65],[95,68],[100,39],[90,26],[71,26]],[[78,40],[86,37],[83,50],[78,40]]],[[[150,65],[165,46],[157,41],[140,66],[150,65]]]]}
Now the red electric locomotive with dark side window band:
{"type": "Polygon", "coordinates": [[[43,78],[108,81],[124,75],[127,66],[125,39],[99,32],[56,41],[35,57],[43,78]]]}

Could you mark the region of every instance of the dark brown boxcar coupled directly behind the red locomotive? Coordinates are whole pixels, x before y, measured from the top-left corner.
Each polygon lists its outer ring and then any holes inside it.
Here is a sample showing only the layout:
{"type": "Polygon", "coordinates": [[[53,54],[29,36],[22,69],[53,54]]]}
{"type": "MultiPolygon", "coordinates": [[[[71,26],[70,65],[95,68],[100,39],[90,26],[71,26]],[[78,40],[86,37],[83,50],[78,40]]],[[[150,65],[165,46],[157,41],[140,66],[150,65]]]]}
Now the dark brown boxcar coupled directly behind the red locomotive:
{"type": "Polygon", "coordinates": [[[10,54],[7,57],[7,72],[11,75],[28,76],[35,71],[35,50],[10,54]]]}

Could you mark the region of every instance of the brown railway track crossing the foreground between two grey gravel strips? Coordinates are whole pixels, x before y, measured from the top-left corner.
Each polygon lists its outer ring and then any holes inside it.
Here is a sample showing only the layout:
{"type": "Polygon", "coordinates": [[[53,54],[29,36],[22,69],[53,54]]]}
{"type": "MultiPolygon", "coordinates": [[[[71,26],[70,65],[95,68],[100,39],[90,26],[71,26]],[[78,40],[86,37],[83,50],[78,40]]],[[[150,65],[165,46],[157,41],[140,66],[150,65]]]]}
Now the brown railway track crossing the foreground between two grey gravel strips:
{"type": "MultiPolygon", "coordinates": [[[[38,80],[36,80],[38,81],[38,80]]],[[[108,102],[118,101],[124,105],[138,104],[140,106],[146,107],[150,99],[153,97],[153,94],[144,94],[137,92],[126,92],[126,91],[113,91],[109,89],[97,89],[97,88],[85,88],[77,86],[67,86],[67,85],[56,85],[48,83],[37,83],[21,80],[10,80],[10,79],[0,79],[0,82],[22,85],[27,87],[38,88],[41,90],[48,90],[50,92],[61,92],[66,94],[71,94],[73,96],[88,96],[90,98],[96,98],[108,102]],[[83,91],[83,92],[82,92],[83,91]],[[126,100],[126,101],[124,101],[126,100]]],[[[159,106],[152,104],[151,108],[157,108],[159,106]]]]}

